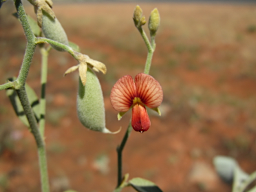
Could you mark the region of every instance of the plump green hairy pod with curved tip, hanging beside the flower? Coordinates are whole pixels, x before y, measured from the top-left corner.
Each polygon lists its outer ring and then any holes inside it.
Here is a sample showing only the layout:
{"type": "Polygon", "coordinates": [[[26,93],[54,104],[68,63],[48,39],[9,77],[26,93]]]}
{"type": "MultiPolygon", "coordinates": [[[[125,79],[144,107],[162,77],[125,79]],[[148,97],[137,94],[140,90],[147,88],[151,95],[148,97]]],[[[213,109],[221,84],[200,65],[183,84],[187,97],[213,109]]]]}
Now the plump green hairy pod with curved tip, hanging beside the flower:
{"type": "Polygon", "coordinates": [[[77,95],[77,114],[79,120],[85,127],[93,131],[113,133],[105,127],[105,108],[99,79],[89,67],[86,73],[87,81],[85,86],[83,86],[79,77],[77,95]]]}

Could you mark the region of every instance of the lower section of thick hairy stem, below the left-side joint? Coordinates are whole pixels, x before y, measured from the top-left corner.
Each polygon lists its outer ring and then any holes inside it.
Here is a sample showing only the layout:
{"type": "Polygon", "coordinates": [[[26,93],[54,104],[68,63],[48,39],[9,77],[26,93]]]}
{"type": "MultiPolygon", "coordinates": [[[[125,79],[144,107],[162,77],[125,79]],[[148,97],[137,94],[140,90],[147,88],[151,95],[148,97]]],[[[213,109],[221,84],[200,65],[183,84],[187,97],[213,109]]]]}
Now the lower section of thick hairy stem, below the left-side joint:
{"type": "Polygon", "coordinates": [[[19,100],[21,101],[21,105],[23,106],[23,110],[27,116],[27,121],[29,121],[31,133],[35,137],[35,141],[37,143],[42,191],[48,192],[49,180],[48,180],[48,173],[47,173],[45,143],[43,142],[43,138],[37,127],[37,120],[35,119],[35,115],[32,111],[31,105],[29,103],[29,99],[27,98],[27,93],[24,86],[21,87],[21,89],[17,90],[17,95],[19,96],[19,100]]]}

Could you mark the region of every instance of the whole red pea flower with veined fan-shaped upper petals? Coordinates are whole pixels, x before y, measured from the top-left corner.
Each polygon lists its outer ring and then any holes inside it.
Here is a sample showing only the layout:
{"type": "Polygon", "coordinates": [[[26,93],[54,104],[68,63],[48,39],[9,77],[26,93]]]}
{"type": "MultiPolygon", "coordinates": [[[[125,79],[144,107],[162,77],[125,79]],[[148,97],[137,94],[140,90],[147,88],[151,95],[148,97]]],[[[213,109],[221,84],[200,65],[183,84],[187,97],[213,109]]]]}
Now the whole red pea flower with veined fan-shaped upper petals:
{"type": "Polygon", "coordinates": [[[110,101],[113,108],[119,111],[118,119],[132,108],[131,125],[135,131],[143,133],[151,123],[145,106],[157,111],[163,101],[161,85],[152,76],[139,73],[135,81],[131,75],[121,77],[111,90],[110,101]]]}

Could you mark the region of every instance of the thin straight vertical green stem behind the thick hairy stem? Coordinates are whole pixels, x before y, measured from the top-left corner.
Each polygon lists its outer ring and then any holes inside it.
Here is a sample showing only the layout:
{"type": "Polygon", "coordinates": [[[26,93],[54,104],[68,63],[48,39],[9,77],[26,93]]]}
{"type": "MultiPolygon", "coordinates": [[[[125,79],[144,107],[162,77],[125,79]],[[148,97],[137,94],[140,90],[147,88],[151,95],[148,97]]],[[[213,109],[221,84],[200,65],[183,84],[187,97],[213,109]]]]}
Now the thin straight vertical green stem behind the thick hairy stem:
{"type": "Polygon", "coordinates": [[[49,51],[47,51],[44,47],[40,49],[42,55],[42,66],[41,66],[41,99],[40,99],[40,120],[39,120],[39,130],[41,135],[45,135],[45,89],[47,83],[47,64],[48,64],[48,55],[49,51]]]}

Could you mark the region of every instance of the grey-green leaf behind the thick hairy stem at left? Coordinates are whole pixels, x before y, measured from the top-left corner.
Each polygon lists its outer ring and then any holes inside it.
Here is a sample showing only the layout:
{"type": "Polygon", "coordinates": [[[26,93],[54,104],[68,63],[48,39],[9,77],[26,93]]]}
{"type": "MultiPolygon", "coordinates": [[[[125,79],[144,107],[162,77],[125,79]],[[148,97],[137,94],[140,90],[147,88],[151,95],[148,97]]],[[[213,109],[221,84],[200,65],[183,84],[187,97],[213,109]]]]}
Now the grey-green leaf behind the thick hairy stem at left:
{"type": "MultiPolygon", "coordinates": [[[[14,78],[10,78],[9,81],[13,81],[14,78]]],[[[25,89],[27,91],[27,97],[29,97],[29,103],[34,111],[35,118],[39,121],[39,114],[40,114],[40,107],[39,107],[39,99],[35,94],[35,91],[29,85],[25,85],[25,89]]],[[[29,122],[27,121],[27,117],[24,113],[23,107],[21,105],[21,101],[19,101],[19,97],[15,90],[7,89],[6,91],[7,96],[9,97],[11,104],[13,105],[13,109],[16,115],[21,119],[21,121],[29,127],[29,122]]]]}

